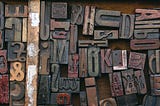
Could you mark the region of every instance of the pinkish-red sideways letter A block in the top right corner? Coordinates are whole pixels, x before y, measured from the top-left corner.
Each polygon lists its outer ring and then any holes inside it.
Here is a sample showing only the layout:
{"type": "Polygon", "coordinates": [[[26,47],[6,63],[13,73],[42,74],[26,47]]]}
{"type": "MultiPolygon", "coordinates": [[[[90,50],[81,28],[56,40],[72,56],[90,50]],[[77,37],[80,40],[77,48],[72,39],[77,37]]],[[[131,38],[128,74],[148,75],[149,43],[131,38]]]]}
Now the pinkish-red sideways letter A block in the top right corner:
{"type": "Polygon", "coordinates": [[[136,9],[136,21],[151,20],[160,18],[160,10],[155,9],[136,9]]]}

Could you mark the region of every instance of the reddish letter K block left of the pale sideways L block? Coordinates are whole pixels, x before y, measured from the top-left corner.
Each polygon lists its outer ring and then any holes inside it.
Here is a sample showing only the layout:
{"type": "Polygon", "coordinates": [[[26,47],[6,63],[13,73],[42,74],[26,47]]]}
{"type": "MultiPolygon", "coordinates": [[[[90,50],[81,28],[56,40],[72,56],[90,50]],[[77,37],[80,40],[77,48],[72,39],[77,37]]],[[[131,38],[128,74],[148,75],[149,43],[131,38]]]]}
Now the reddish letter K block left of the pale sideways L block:
{"type": "Polygon", "coordinates": [[[112,72],[112,51],[111,49],[101,49],[101,73],[112,72]]]}

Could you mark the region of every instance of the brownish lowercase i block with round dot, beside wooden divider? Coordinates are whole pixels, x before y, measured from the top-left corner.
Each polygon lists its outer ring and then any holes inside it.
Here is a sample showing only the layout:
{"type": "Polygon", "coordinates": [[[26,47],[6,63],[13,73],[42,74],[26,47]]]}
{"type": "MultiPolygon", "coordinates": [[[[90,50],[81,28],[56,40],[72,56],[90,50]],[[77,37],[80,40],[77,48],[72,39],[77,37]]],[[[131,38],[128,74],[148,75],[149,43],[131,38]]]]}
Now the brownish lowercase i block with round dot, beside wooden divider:
{"type": "Polygon", "coordinates": [[[41,42],[40,43],[40,69],[39,74],[48,75],[49,68],[49,58],[50,58],[50,42],[41,42]]]}

